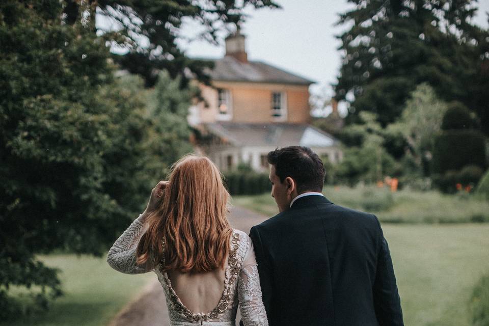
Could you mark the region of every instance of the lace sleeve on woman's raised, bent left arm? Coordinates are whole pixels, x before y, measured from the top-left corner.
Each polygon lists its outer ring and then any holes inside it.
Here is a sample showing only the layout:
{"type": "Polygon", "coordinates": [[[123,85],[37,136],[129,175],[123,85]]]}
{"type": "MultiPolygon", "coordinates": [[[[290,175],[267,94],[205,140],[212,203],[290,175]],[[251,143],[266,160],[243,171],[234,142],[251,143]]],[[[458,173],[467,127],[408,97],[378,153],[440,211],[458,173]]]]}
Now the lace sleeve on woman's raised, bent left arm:
{"type": "Polygon", "coordinates": [[[139,240],[144,233],[144,224],[141,216],[142,214],[140,214],[138,218],[131,223],[127,230],[122,233],[122,235],[113,244],[112,248],[108,251],[108,264],[121,273],[141,274],[151,270],[146,270],[142,266],[136,264],[136,248],[138,247],[139,240]]]}

